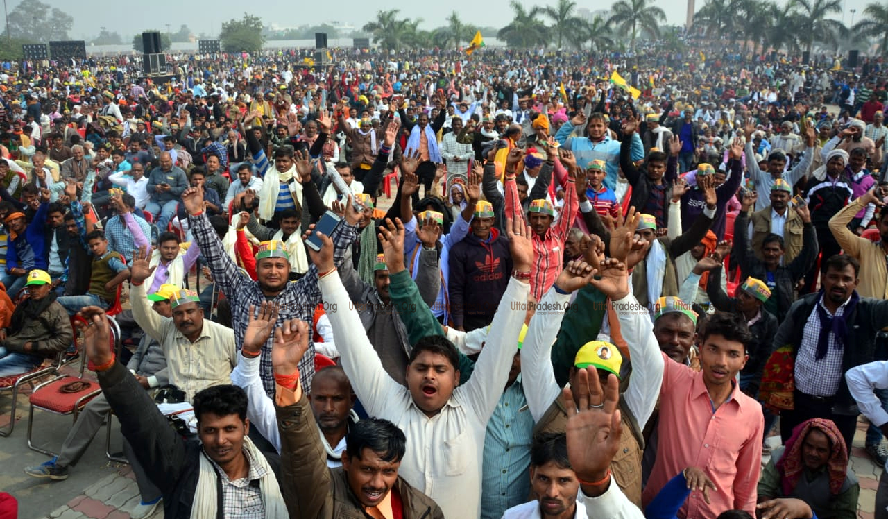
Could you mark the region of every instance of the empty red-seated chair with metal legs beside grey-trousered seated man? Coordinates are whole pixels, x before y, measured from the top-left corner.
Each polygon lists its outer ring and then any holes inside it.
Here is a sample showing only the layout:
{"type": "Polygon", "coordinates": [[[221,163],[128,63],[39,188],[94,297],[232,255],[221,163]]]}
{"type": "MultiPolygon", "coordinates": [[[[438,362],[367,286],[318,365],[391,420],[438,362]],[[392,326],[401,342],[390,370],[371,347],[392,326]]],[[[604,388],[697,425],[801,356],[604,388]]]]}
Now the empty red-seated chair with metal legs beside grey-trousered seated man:
{"type": "MultiPolygon", "coordinates": [[[[120,345],[120,327],[113,317],[107,317],[111,324],[111,347],[117,350],[120,345]]],[[[34,444],[31,437],[34,431],[34,410],[39,409],[55,414],[70,414],[77,421],[80,411],[89,403],[96,395],[102,392],[98,382],[83,379],[83,369],[86,367],[87,355],[86,351],[81,352],[80,376],[61,375],[52,380],[47,380],[43,384],[35,387],[34,392],[29,398],[30,408],[28,409],[28,449],[37,452],[43,452],[47,456],[57,456],[58,453],[50,451],[44,446],[34,444]],[[83,389],[75,393],[62,393],[61,387],[67,386],[72,382],[83,382],[83,389]]]]}

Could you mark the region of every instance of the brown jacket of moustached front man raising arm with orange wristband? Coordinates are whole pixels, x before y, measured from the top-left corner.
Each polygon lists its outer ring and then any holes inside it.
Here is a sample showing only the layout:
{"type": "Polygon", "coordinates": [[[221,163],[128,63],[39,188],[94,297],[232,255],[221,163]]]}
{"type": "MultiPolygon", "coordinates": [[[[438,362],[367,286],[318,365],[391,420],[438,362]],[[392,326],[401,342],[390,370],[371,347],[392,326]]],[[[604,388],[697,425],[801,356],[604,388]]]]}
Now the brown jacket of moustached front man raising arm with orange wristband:
{"type": "MultiPolygon", "coordinates": [[[[342,467],[327,467],[327,451],[305,394],[287,407],[275,405],[281,432],[283,499],[293,519],[365,519],[342,467]]],[[[444,519],[440,507],[398,477],[392,487],[400,495],[404,519],[444,519]]],[[[454,496],[454,499],[458,499],[454,496]]]]}

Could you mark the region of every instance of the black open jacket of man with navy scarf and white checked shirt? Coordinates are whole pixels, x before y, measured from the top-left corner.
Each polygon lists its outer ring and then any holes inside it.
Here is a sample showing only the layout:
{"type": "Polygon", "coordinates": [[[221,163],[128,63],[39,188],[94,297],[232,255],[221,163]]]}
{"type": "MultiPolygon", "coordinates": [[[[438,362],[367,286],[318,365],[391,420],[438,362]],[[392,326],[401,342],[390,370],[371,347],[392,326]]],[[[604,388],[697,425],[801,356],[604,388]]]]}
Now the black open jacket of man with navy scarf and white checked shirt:
{"type": "MultiPolygon", "coordinates": [[[[792,346],[793,356],[797,356],[802,344],[802,333],[808,316],[815,311],[814,307],[821,294],[807,294],[793,303],[787,317],[781,322],[774,337],[772,347],[776,349],[786,345],[792,346]]],[[[852,313],[847,315],[848,337],[844,340],[842,353],[842,377],[839,380],[836,400],[832,412],[842,415],[856,415],[860,411],[857,402],[848,391],[848,383],[844,373],[860,364],[875,360],[876,332],[888,326],[888,300],[860,298],[852,313]]],[[[816,347],[816,345],[810,345],[816,347]]]]}

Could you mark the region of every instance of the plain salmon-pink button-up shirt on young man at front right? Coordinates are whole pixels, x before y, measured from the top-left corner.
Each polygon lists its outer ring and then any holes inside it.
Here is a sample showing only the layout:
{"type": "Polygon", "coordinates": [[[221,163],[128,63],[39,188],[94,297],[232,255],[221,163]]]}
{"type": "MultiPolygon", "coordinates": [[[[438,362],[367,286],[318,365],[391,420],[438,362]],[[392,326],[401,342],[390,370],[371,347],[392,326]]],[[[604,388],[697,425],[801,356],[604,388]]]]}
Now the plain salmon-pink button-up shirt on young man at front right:
{"type": "Polygon", "coordinates": [[[687,467],[699,467],[716,484],[710,505],[694,491],[678,517],[716,519],[728,509],[756,516],[758,475],[762,467],[762,406],[736,385],[730,399],[712,412],[701,371],[663,355],[660,388],[660,436],[657,458],[641,496],[647,506],[657,492],[687,467]]]}

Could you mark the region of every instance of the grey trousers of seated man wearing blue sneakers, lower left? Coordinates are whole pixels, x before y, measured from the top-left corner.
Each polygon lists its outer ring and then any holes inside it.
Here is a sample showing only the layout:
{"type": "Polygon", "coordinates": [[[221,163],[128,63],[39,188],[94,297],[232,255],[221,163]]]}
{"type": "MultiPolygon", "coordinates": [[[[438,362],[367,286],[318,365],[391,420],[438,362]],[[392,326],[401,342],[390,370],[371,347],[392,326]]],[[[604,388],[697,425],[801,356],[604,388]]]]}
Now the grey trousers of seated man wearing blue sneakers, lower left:
{"type": "MultiPolygon", "coordinates": [[[[77,461],[83,457],[87,447],[90,446],[92,438],[99,432],[106,417],[107,419],[112,419],[109,415],[110,412],[111,404],[108,403],[105,395],[99,394],[90,403],[87,403],[83,411],[80,411],[74,427],[71,427],[71,430],[67,433],[67,438],[65,438],[65,443],[62,443],[56,464],[60,467],[76,465],[77,461]]],[[[136,483],[139,484],[139,493],[142,495],[142,501],[148,503],[160,498],[161,491],[148,479],[145,470],[139,465],[139,460],[136,459],[135,451],[133,451],[130,443],[126,441],[126,438],[123,439],[123,453],[126,455],[126,459],[130,461],[132,473],[136,476],[136,483]]]]}

